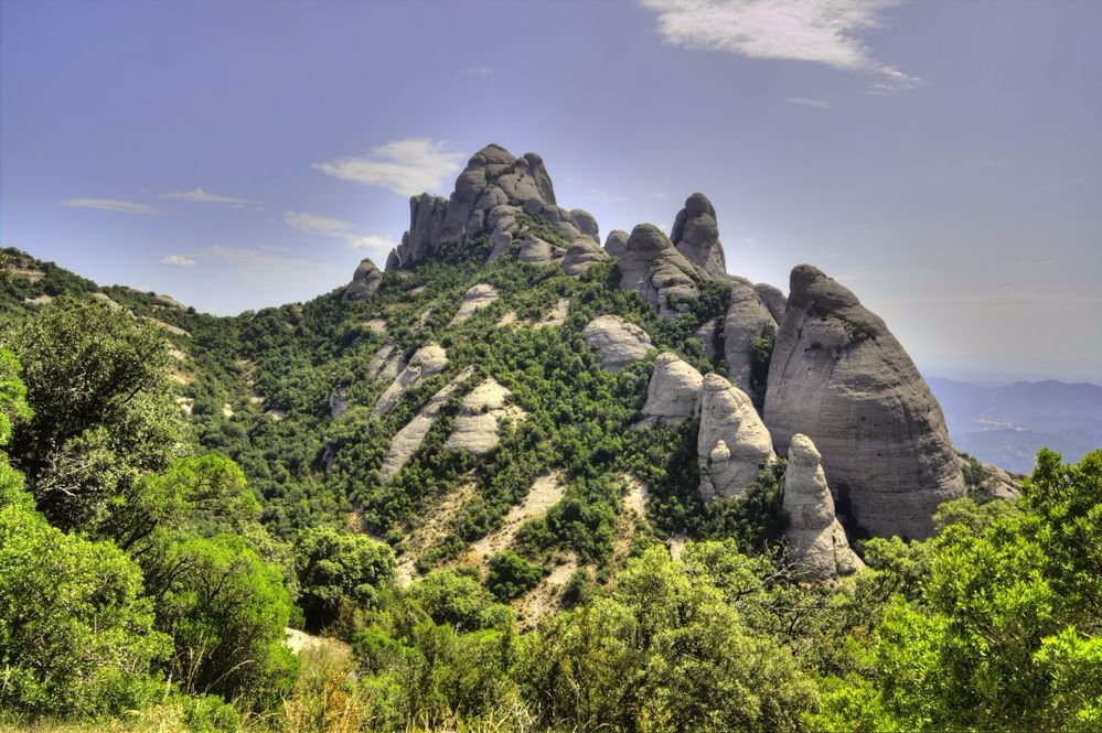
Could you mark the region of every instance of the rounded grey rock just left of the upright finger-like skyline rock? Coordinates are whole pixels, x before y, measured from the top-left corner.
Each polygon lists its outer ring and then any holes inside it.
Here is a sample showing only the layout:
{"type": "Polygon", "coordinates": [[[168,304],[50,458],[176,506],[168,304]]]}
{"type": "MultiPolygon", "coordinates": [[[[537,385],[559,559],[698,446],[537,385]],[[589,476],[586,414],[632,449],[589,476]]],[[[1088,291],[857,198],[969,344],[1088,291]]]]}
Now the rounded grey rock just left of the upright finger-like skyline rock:
{"type": "Polygon", "coordinates": [[[684,312],[687,301],[700,294],[696,283],[704,271],[674,249],[654,225],[632,229],[619,259],[620,288],[639,292],[662,317],[684,312]]]}

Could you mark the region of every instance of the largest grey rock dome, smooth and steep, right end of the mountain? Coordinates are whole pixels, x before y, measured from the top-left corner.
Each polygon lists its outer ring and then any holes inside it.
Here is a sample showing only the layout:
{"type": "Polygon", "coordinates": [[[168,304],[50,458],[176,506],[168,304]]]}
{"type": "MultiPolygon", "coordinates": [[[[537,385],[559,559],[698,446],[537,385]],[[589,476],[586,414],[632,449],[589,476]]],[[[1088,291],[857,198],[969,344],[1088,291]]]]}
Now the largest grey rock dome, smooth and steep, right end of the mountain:
{"type": "Polygon", "coordinates": [[[764,416],[778,450],[798,432],[814,441],[839,511],[873,535],[928,537],[937,506],[964,495],[941,407],[910,357],[807,265],[792,270],[764,416]]]}

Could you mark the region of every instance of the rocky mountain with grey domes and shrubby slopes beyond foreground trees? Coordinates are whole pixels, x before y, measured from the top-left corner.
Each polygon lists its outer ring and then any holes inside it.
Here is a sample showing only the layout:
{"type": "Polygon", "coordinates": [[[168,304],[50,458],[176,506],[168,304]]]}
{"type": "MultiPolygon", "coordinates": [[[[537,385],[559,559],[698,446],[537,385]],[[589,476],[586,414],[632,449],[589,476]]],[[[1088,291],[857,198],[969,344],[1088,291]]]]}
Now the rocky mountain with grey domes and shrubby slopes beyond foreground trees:
{"type": "Polygon", "coordinates": [[[6,250],[0,306],[84,294],[158,324],[195,443],[243,467],[269,531],[367,532],[407,579],[516,550],[546,574],[533,617],[633,538],[778,538],[795,434],[850,535],[930,535],[965,483],[882,321],[810,266],[788,298],[727,273],[703,194],[675,220],[602,247],[538,155],[488,145],[449,198],[410,201],[385,271],[307,303],[215,317],[6,250]]]}

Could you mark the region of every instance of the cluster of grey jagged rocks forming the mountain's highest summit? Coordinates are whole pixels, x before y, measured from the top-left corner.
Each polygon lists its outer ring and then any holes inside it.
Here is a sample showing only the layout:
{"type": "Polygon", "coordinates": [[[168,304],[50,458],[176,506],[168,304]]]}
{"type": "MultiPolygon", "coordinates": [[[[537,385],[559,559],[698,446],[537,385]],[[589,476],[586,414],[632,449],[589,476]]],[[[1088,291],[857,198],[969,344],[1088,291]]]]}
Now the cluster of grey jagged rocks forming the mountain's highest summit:
{"type": "Polygon", "coordinates": [[[441,247],[467,247],[483,231],[493,246],[490,259],[509,250],[521,214],[542,217],[567,240],[592,237],[597,222],[581,209],[568,212],[555,202],[555,188],[535,153],[514,158],[501,145],[474,153],[456,180],[449,200],[421,194],[409,202],[409,230],[386,260],[386,269],[409,267],[441,247]]]}

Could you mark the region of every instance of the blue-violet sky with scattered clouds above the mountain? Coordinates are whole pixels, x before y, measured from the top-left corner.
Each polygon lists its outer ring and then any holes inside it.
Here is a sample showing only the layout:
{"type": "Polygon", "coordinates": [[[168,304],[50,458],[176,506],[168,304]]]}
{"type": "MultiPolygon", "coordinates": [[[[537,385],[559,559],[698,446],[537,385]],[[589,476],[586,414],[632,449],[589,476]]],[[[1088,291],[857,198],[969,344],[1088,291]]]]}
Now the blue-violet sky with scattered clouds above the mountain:
{"type": "Polygon", "coordinates": [[[602,237],[693,192],[928,375],[1102,382],[1102,2],[0,0],[0,244],[232,314],[496,142],[602,237]]]}

